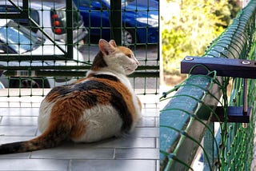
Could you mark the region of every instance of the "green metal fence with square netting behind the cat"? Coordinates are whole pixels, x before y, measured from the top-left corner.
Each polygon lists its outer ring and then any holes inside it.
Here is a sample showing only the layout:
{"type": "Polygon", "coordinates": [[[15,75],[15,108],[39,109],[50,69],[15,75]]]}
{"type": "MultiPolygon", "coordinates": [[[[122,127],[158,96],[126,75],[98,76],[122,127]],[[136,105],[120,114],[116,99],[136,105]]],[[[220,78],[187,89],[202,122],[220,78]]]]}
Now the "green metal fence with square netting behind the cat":
{"type": "Polygon", "coordinates": [[[0,42],[0,82],[6,89],[52,88],[84,77],[99,38],[113,38],[130,46],[140,62],[130,75],[137,93],[158,93],[158,2],[1,0],[0,23],[6,39],[0,42]]]}

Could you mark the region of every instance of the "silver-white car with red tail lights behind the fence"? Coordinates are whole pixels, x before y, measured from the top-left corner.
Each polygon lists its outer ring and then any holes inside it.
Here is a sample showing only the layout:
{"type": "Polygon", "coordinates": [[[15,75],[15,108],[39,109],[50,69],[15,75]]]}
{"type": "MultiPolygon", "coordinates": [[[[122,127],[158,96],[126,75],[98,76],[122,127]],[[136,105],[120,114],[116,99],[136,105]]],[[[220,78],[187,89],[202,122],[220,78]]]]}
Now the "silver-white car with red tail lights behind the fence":
{"type": "MultiPolygon", "coordinates": [[[[9,1],[0,1],[0,12],[17,13],[18,7],[22,9],[22,1],[14,1],[15,5],[12,5],[9,1]]],[[[57,41],[66,42],[66,2],[54,2],[54,1],[29,1],[30,18],[42,27],[43,30],[57,41]]],[[[38,26],[28,18],[13,18],[15,22],[28,26],[38,36],[43,36],[42,31],[38,26]]],[[[88,31],[84,26],[82,16],[78,13],[77,7],[73,3],[73,42],[84,43],[86,42],[88,31]]],[[[44,36],[46,37],[46,36],[44,36]]]]}

